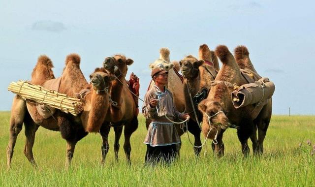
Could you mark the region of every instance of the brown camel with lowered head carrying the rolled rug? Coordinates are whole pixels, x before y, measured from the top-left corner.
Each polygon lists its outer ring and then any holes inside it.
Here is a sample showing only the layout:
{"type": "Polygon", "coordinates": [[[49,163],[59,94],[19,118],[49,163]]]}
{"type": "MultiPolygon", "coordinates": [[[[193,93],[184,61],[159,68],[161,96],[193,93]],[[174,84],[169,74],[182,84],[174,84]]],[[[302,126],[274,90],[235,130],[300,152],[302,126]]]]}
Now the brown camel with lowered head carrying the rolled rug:
{"type": "MultiPolygon", "coordinates": [[[[238,61],[247,62],[247,66],[250,67],[248,54],[236,50],[238,61]],[[241,57],[241,58],[240,58],[241,57]]],[[[214,81],[214,84],[208,94],[208,97],[199,103],[198,108],[205,115],[203,116],[203,129],[204,133],[208,135],[208,138],[217,138],[217,144],[213,146],[214,152],[218,156],[224,155],[224,144],[222,142],[223,132],[226,128],[233,125],[237,127],[237,135],[242,145],[242,153],[247,156],[250,152],[248,147],[248,138],[251,137],[253,141],[254,153],[262,153],[262,143],[265,136],[265,130],[267,129],[270,117],[271,108],[264,106],[264,110],[261,110],[258,116],[252,116],[251,113],[255,110],[255,105],[248,105],[243,108],[235,109],[232,102],[230,93],[235,87],[248,83],[250,76],[242,74],[241,69],[234,59],[233,55],[229,52],[228,48],[224,45],[220,45],[216,48],[216,55],[222,62],[222,67],[218,72],[218,75],[214,81]],[[259,141],[253,133],[255,126],[258,126],[259,141]],[[254,140],[254,138],[256,140],[254,140]]],[[[252,65],[252,64],[251,64],[252,65]]],[[[243,68],[244,68],[243,67],[243,68]]],[[[253,66],[252,66],[253,67],[253,66]]],[[[254,70],[252,68],[252,70],[254,70]]],[[[269,101],[271,102],[271,101],[269,101]]]]}

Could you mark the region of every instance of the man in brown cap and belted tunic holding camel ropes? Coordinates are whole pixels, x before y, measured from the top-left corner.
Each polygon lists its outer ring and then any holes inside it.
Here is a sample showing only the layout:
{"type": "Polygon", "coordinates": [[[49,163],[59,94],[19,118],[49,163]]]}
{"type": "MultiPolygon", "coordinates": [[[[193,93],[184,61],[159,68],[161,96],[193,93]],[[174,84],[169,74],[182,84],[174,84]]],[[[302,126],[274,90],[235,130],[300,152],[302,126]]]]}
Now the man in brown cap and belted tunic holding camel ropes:
{"type": "Polygon", "coordinates": [[[146,93],[142,107],[143,115],[152,120],[144,141],[147,144],[145,163],[156,164],[161,159],[170,163],[177,154],[176,144],[181,142],[174,124],[169,120],[184,120],[189,115],[176,110],[172,93],[165,89],[168,71],[156,67],[152,70],[151,77],[155,84],[146,93]]]}

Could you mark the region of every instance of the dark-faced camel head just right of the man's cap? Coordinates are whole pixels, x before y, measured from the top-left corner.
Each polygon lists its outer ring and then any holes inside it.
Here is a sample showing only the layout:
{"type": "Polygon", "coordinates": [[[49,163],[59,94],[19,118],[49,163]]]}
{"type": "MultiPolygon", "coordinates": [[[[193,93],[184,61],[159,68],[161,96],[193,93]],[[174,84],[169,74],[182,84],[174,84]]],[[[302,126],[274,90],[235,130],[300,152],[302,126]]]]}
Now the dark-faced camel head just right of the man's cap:
{"type": "Polygon", "coordinates": [[[181,65],[181,71],[187,79],[193,79],[198,76],[199,66],[203,64],[204,61],[198,61],[192,55],[185,57],[179,63],[181,65]]]}

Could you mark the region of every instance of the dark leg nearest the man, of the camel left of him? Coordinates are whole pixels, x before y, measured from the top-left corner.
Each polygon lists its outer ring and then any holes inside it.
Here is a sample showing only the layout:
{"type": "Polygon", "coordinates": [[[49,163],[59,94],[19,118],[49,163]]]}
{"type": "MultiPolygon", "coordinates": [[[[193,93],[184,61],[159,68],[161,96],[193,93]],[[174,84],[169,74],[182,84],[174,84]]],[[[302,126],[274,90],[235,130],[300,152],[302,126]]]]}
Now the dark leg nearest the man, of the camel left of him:
{"type": "Polygon", "coordinates": [[[130,145],[130,137],[131,134],[138,128],[138,118],[135,116],[130,123],[126,123],[125,129],[124,129],[124,135],[125,135],[125,143],[124,143],[124,151],[126,154],[126,158],[129,164],[131,164],[130,161],[130,152],[131,152],[131,145],[130,145]]]}

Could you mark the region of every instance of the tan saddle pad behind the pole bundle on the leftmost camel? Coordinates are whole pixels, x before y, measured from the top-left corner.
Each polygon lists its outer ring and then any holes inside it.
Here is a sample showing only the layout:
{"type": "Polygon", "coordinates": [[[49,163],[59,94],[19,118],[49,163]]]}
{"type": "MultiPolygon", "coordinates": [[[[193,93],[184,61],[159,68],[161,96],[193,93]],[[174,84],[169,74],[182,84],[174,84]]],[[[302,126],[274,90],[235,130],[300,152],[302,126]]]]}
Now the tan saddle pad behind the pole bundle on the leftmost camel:
{"type": "MultiPolygon", "coordinates": [[[[56,79],[47,80],[46,82],[44,82],[44,84],[41,85],[41,87],[58,92],[60,83],[61,83],[61,77],[58,77],[56,79]]],[[[37,102],[36,102],[36,109],[37,109],[38,114],[41,115],[44,119],[47,119],[53,116],[56,112],[56,108],[49,107],[45,104],[39,104],[37,102]]]]}

